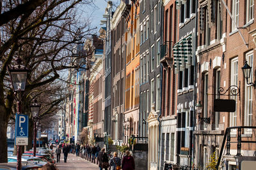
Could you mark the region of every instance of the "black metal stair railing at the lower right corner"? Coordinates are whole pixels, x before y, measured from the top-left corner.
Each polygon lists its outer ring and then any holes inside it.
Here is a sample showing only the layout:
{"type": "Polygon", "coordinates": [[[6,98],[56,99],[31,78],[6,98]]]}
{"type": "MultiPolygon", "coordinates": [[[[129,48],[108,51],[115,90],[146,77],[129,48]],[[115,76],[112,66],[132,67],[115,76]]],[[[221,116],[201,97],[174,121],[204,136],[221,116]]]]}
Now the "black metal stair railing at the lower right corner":
{"type": "Polygon", "coordinates": [[[254,126],[234,126],[234,127],[227,127],[226,131],[225,131],[225,135],[224,135],[224,138],[223,138],[223,142],[222,142],[222,145],[221,145],[221,150],[220,150],[220,157],[218,159],[218,163],[216,165],[216,169],[218,169],[218,167],[220,166],[220,161],[221,161],[221,157],[222,157],[222,154],[223,154],[223,149],[225,147],[225,143],[226,143],[226,139],[227,139],[227,144],[226,144],[226,148],[227,148],[227,153],[226,155],[230,155],[230,143],[237,143],[237,156],[241,156],[241,146],[242,146],[242,143],[256,143],[256,141],[243,141],[242,140],[242,135],[241,135],[241,132],[242,132],[242,129],[256,129],[256,127],[254,126]],[[231,136],[230,136],[230,132],[231,132],[231,129],[237,129],[237,141],[230,141],[231,140],[231,136]]]}

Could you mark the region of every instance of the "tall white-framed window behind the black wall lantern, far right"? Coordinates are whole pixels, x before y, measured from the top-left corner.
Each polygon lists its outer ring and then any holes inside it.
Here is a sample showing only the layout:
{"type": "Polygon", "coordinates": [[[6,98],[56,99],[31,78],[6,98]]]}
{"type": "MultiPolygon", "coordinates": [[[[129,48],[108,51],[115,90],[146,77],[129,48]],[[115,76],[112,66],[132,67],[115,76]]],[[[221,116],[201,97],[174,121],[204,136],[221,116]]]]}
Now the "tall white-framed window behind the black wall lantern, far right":
{"type": "MultiPolygon", "coordinates": [[[[248,81],[253,82],[253,51],[246,53],[246,60],[248,65],[252,67],[252,73],[248,81]]],[[[244,125],[252,126],[252,85],[247,83],[245,83],[244,119],[244,125]]]]}

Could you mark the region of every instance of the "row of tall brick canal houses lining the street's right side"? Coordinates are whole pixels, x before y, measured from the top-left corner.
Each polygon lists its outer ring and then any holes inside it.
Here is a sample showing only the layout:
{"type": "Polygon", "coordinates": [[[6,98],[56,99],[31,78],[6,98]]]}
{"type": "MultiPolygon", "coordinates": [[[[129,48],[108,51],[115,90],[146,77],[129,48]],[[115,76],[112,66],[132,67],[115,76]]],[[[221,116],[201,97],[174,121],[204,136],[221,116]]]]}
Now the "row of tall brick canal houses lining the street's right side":
{"type": "Polygon", "coordinates": [[[93,53],[69,72],[66,136],[133,136],[147,143],[136,169],[255,164],[254,17],[254,0],[108,1],[99,36],[75,49],[93,53]]]}

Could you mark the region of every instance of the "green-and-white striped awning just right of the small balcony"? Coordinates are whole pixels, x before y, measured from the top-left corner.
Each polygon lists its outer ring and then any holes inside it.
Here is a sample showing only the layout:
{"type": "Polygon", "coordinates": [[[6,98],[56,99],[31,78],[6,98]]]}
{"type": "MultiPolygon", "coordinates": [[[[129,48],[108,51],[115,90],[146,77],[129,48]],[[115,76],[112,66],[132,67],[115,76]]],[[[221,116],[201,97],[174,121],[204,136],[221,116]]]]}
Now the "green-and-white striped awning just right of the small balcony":
{"type": "Polygon", "coordinates": [[[186,67],[191,66],[192,57],[192,36],[180,40],[173,46],[173,58],[175,73],[183,71],[186,67]]]}

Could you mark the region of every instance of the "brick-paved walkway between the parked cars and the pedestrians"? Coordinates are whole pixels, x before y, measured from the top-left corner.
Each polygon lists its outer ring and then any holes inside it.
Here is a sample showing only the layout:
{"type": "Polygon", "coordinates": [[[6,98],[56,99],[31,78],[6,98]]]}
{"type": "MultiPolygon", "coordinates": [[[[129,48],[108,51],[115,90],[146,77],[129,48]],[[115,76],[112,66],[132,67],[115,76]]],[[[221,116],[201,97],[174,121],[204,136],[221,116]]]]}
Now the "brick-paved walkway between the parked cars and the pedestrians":
{"type": "MultiPolygon", "coordinates": [[[[56,155],[54,155],[56,159],[56,155]]],[[[67,163],[64,163],[64,155],[61,153],[60,162],[56,162],[56,166],[59,170],[62,169],[86,169],[86,170],[99,170],[99,167],[88,160],[81,159],[81,157],[76,157],[76,155],[72,153],[68,153],[67,163]]]]}

